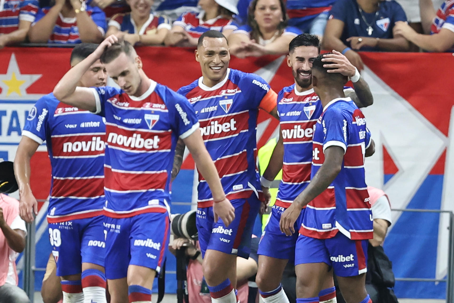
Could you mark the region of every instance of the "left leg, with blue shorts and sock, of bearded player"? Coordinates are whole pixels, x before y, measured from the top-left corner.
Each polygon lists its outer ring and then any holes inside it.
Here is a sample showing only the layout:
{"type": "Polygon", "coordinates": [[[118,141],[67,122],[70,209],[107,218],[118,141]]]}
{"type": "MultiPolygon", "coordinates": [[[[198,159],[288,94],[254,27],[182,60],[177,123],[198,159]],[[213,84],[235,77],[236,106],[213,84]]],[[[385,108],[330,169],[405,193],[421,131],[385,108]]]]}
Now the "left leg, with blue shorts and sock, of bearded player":
{"type": "MultiPolygon", "coordinates": [[[[264,303],[289,302],[281,280],[288,260],[294,262],[298,233],[291,237],[281,233],[279,220],[284,210],[280,206],[273,206],[257,251],[259,259],[256,283],[264,303]]],[[[299,228],[298,223],[299,220],[295,223],[295,230],[299,228]]]]}

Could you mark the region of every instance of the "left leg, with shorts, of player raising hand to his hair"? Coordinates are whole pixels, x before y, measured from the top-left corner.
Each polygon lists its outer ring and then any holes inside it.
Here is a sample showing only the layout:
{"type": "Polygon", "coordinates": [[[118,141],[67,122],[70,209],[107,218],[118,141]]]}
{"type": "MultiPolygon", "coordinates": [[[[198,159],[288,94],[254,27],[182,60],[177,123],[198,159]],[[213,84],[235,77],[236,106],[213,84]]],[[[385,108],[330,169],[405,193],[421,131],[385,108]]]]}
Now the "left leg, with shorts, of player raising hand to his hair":
{"type": "MultiPolygon", "coordinates": [[[[105,273],[110,293],[110,303],[128,302],[129,232],[131,218],[114,219],[105,217],[106,257],[105,273]]],[[[103,233],[104,234],[104,233],[103,233]]]]}

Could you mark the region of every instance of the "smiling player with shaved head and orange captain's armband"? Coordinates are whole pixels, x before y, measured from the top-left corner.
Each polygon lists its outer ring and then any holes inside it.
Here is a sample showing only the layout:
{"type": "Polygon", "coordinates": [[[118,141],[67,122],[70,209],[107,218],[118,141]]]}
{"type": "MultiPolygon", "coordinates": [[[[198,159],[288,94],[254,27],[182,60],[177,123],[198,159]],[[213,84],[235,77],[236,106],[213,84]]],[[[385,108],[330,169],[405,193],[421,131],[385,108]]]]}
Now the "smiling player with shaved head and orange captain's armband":
{"type": "MultiPolygon", "coordinates": [[[[249,256],[252,228],[262,205],[256,168],[257,114],[262,108],[277,118],[276,93],[259,76],[228,68],[227,40],[218,31],[209,30],[200,36],[195,56],[202,77],[178,93],[194,107],[203,141],[227,198],[235,207],[235,220],[227,228],[213,217],[216,199],[205,179],[199,176],[196,223],[203,274],[212,302],[236,303],[235,260],[237,255],[249,256]]],[[[178,173],[183,151],[184,144],[180,144],[174,175],[178,173]]]]}

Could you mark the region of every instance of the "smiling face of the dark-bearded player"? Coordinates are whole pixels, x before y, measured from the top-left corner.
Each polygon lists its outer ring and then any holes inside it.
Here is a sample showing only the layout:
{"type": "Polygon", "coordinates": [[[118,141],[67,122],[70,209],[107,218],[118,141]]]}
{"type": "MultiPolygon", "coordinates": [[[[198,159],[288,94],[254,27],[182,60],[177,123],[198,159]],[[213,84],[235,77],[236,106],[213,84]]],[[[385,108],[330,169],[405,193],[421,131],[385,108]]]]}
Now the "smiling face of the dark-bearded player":
{"type": "Polygon", "coordinates": [[[318,56],[315,46],[298,46],[287,56],[287,65],[291,67],[293,78],[301,88],[312,84],[312,62],[318,56]]]}

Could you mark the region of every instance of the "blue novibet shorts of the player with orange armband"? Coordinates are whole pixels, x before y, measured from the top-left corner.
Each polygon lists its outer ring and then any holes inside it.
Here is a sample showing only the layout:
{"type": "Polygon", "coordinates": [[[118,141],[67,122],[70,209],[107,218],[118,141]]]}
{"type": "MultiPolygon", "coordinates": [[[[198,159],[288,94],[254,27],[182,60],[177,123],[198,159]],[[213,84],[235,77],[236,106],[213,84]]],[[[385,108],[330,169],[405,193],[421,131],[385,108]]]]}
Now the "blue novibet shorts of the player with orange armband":
{"type": "Polygon", "coordinates": [[[212,207],[197,208],[196,225],[202,258],[207,249],[249,258],[252,229],[262,202],[252,194],[247,199],[234,199],[230,203],[235,208],[235,219],[227,228],[221,218],[214,222],[212,207]]]}

